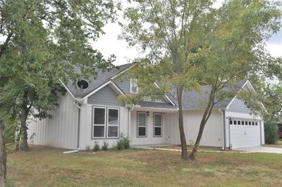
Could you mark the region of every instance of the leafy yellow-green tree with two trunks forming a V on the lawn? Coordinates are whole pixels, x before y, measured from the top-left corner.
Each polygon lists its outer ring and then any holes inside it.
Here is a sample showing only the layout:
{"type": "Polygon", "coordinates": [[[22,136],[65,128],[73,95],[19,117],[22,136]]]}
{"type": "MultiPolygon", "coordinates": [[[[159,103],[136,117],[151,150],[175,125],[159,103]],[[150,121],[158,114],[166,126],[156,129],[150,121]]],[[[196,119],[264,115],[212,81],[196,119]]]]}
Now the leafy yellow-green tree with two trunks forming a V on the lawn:
{"type": "Polygon", "coordinates": [[[200,91],[200,85],[208,84],[207,100],[199,103],[203,116],[190,154],[195,159],[214,106],[235,96],[232,85],[269,60],[264,41],[280,27],[278,4],[234,0],[213,9],[212,1],[137,1],[137,6],[125,10],[130,23],[123,25],[123,37],[130,45],[139,44],[147,56],[136,60],[130,75],[138,79],[140,93],[121,99],[138,103],[146,96],[176,91],[181,158],[186,159],[182,93],[200,91]],[[157,91],[154,82],[159,83],[157,91]]]}

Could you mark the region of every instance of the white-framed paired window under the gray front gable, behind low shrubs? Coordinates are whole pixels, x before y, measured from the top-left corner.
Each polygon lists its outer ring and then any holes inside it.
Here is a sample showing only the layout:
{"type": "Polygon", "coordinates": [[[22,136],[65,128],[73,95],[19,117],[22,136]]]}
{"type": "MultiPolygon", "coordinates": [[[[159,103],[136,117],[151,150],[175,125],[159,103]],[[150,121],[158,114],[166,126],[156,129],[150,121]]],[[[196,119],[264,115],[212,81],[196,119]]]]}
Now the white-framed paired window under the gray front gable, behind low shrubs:
{"type": "Polygon", "coordinates": [[[118,138],[118,108],[94,107],[92,138],[118,138]]]}

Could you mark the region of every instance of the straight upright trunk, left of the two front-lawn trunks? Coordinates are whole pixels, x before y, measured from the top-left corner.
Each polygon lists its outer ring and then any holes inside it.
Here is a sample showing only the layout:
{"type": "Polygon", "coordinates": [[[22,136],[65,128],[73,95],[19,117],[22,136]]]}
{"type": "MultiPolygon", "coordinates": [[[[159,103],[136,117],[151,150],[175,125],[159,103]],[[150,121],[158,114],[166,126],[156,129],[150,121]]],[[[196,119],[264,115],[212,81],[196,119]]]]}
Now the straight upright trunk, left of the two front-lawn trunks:
{"type": "Polygon", "coordinates": [[[177,89],[177,96],[178,96],[178,122],[179,122],[179,131],[180,131],[180,142],[181,142],[181,159],[187,160],[187,144],[186,138],[184,133],[184,125],[183,125],[183,109],[182,109],[182,93],[183,93],[183,86],[179,86],[177,89]]]}

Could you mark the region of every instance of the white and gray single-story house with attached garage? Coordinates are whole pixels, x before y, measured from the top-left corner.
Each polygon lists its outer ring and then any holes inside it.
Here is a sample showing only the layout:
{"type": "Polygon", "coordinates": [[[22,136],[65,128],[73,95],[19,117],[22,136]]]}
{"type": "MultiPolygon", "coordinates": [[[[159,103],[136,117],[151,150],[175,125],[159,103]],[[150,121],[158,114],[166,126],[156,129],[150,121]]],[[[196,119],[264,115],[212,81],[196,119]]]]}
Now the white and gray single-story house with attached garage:
{"type": "MultiPolygon", "coordinates": [[[[69,82],[63,84],[67,92],[59,97],[59,107],[50,111],[51,118],[30,119],[30,143],[68,149],[85,149],[94,141],[114,145],[121,133],[128,135],[132,146],[180,144],[178,105],[173,93],[161,101],[143,101],[140,105],[121,105],[118,96],[135,93],[138,87],[131,79],[121,79],[132,64],[114,67],[109,72],[99,71],[94,81],[80,82],[78,89],[69,82]]],[[[156,84],[158,85],[158,84],[156,84]]],[[[250,89],[249,81],[238,83],[240,89],[250,89]]],[[[184,129],[188,143],[195,141],[203,110],[200,101],[207,97],[209,86],[202,93],[183,93],[184,129]]],[[[242,148],[264,144],[264,122],[250,114],[249,108],[238,98],[217,103],[210,116],[202,146],[242,148]]]]}

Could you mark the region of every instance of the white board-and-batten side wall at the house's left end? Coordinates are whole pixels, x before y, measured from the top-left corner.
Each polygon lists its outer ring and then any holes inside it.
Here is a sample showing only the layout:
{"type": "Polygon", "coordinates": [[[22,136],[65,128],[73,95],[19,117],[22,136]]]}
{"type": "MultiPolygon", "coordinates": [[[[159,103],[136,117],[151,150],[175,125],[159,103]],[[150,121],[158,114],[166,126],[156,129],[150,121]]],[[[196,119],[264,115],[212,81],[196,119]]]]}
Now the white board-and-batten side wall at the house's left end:
{"type": "Polygon", "coordinates": [[[29,143],[39,146],[76,149],[78,141],[78,108],[73,105],[73,98],[67,92],[59,96],[59,106],[49,112],[51,118],[27,121],[29,143]],[[30,139],[30,136],[33,138],[30,139]]]}

